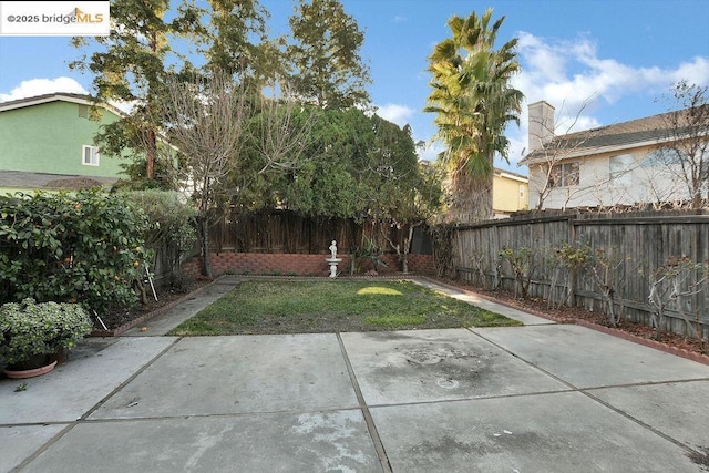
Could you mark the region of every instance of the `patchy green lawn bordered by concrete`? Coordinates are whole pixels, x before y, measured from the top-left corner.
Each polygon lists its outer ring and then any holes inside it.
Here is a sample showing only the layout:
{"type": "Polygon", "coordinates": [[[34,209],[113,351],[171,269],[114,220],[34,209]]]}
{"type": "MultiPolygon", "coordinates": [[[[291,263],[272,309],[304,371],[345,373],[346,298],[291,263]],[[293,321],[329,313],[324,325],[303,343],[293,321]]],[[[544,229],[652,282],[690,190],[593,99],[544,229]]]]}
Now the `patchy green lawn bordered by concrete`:
{"type": "Polygon", "coordinates": [[[411,281],[263,281],[234,290],[173,336],[316,333],[518,326],[411,281]]]}

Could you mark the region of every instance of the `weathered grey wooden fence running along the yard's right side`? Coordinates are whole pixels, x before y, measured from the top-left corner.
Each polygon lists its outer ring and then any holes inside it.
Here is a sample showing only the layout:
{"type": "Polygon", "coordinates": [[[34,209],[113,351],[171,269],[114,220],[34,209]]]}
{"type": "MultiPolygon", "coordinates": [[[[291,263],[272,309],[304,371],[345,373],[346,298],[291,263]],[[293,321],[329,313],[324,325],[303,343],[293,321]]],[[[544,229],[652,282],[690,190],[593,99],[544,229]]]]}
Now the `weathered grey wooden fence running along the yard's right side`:
{"type": "Polygon", "coordinates": [[[609,288],[615,313],[651,325],[653,315],[658,313],[658,305],[649,304],[655,287],[665,316],[657,320],[664,327],[678,333],[697,330],[695,335],[709,337],[706,210],[528,214],[454,227],[451,245],[456,276],[473,285],[521,291],[521,281],[528,280],[530,297],[608,313],[604,285],[589,267],[559,264],[558,251],[564,245],[567,249],[586,248],[597,261],[605,261],[596,269],[609,288]],[[522,277],[515,278],[512,258],[501,256],[505,250],[518,257],[522,277]],[[662,275],[669,276],[660,280],[662,275]]]}

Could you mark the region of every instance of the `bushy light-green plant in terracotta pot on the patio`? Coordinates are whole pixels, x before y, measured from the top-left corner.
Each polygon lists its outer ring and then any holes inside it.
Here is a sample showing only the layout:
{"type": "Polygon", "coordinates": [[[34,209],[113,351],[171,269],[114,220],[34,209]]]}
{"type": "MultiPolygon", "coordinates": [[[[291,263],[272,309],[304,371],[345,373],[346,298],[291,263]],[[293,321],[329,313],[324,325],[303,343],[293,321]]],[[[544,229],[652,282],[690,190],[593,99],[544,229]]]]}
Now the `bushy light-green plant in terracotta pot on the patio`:
{"type": "Polygon", "coordinates": [[[0,366],[10,378],[51,371],[65,353],[91,332],[91,318],[78,304],[21,302],[0,306],[0,366]],[[54,359],[52,360],[52,357],[54,359]],[[53,362],[52,362],[53,361],[53,362]]]}

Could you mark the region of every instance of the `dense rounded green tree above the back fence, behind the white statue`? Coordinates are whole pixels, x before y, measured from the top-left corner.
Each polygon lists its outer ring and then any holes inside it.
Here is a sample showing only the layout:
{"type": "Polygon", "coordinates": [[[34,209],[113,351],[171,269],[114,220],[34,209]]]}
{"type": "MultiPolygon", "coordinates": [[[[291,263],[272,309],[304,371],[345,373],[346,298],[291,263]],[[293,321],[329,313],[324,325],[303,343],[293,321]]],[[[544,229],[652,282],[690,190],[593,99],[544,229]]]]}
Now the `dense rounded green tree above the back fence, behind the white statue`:
{"type": "Polygon", "coordinates": [[[280,207],[388,228],[418,225],[438,208],[440,179],[419,164],[408,126],[357,109],[329,110],[317,116],[311,136],[305,161],[273,182],[280,207]]]}

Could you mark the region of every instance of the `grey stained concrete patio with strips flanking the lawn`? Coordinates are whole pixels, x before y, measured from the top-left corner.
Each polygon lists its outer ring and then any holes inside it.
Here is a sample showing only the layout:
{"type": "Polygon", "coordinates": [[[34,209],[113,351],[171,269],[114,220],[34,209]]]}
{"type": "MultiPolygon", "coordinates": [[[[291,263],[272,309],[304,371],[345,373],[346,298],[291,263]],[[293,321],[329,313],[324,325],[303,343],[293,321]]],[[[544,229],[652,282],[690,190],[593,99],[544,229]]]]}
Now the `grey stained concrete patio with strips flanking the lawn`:
{"type": "Polygon", "coordinates": [[[234,284],[0,379],[0,471],[709,469],[709,366],[443,287],[525,326],[164,335],[234,284]]]}

